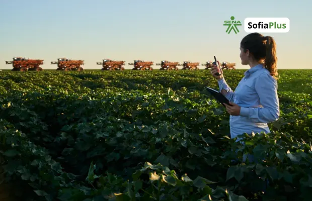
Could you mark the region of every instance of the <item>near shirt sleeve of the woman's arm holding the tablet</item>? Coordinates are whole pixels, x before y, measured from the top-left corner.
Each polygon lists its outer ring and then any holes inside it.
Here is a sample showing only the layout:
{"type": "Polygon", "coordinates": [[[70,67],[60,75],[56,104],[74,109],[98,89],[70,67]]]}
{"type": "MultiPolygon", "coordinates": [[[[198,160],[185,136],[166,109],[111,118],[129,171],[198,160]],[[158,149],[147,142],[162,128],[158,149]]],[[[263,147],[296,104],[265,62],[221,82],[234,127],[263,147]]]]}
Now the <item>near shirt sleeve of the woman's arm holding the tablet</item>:
{"type": "Polygon", "coordinates": [[[240,115],[251,118],[256,123],[270,123],[279,118],[279,99],[277,81],[269,74],[259,75],[255,82],[262,108],[241,107],[240,115]]]}

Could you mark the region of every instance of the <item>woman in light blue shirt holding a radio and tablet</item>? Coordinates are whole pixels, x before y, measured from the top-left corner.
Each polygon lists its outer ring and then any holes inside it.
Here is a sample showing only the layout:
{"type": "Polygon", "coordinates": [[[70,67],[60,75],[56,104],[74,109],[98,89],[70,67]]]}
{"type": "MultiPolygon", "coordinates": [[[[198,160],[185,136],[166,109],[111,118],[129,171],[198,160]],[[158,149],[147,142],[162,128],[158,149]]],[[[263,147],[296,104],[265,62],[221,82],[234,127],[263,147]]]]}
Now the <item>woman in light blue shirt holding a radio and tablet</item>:
{"type": "Polygon", "coordinates": [[[252,33],[243,38],[240,50],[242,64],[249,65],[250,69],[244,73],[245,76],[235,91],[225,82],[221,69],[221,75],[215,75],[218,72],[216,66],[211,69],[211,74],[218,80],[221,93],[230,101],[230,105],[226,105],[226,111],[230,114],[231,138],[244,133],[270,133],[267,124],[279,118],[274,39],[252,33]]]}

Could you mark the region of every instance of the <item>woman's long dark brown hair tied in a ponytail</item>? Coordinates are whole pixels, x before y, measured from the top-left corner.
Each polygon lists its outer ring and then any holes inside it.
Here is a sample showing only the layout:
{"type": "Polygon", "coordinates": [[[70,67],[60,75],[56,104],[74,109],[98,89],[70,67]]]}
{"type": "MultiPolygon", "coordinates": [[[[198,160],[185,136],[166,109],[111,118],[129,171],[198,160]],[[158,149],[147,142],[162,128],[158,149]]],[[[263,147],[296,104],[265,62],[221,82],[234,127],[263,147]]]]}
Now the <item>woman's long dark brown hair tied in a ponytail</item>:
{"type": "Polygon", "coordinates": [[[271,36],[263,36],[259,33],[248,34],[243,38],[241,47],[245,52],[248,49],[254,59],[263,63],[270,74],[278,79],[276,43],[271,36]]]}

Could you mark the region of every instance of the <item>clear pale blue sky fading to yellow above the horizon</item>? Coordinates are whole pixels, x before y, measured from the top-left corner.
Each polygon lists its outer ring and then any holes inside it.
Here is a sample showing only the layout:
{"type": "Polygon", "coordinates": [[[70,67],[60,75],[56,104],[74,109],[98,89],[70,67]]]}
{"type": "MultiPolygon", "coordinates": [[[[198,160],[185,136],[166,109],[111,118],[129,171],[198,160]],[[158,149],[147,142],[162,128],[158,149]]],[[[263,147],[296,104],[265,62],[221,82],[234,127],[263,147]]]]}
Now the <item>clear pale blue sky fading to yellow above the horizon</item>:
{"type": "MultiPolygon", "coordinates": [[[[56,69],[59,57],[85,60],[86,69],[102,59],[240,63],[240,41],[227,34],[224,20],[235,16],[287,17],[288,33],[263,33],[277,43],[278,68],[311,68],[312,3],[290,0],[0,0],[0,68],[12,57],[44,59],[56,69]]],[[[132,66],[126,65],[126,68],[132,66]]],[[[154,66],[158,68],[158,66],[154,66]]]]}

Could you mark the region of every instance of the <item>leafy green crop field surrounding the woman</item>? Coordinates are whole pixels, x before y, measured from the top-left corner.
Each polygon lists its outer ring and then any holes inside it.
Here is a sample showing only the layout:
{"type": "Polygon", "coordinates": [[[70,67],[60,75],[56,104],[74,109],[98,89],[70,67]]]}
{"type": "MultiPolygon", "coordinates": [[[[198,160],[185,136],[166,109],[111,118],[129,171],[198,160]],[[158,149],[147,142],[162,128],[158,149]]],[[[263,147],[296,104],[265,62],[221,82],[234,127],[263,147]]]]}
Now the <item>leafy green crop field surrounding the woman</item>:
{"type": "Polygon", "coordinates": [[[311,200],[312,70],[279,74],[279,120],[242,146],[206,70],[2,71],[0,200],[311,200]]]}

